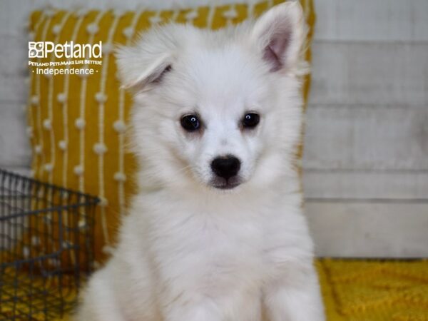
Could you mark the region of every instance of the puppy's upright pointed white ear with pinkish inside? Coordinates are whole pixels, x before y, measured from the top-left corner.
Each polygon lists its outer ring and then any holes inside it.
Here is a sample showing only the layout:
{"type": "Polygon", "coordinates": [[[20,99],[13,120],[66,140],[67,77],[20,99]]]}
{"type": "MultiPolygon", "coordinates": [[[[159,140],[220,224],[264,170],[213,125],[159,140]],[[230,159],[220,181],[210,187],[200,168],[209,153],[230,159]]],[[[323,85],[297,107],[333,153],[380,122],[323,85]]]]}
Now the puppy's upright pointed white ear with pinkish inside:
{"type": "Polygon", "coordinates": [[[305,41],[302,6],[298,1],[274,6],[255,22],[251,37],[270,71],[295,67],[305,41]]]}

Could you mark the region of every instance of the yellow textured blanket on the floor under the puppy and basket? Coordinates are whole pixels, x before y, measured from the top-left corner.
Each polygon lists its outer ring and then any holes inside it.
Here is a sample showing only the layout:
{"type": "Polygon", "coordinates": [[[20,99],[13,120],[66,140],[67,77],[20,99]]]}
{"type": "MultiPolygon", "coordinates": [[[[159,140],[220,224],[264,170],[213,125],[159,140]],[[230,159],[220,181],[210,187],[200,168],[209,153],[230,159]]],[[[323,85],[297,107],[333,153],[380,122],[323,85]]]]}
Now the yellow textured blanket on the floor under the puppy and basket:
{"type": "MultiPolygon", "coordinates": [[[[316,265],[328,321],[428,321],[428,260],[322,259],[316,265]]],[[[0,305],[0,320],[28,320],[3,319],[11,308],[0,305]]]]}

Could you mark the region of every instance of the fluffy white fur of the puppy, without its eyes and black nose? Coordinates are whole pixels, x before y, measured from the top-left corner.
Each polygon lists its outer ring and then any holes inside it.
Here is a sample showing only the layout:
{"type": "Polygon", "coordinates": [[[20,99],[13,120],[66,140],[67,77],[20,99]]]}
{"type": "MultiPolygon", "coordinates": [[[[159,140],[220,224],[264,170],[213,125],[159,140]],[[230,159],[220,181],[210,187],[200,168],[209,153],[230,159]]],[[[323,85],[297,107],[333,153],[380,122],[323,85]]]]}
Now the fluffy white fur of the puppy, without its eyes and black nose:
{"type": "Polygon", "coordinates": [[[168,25],[118,51],[141,190],[76,320],[324,320],[295,168],[304,39],[300,4],[287,2],[255,24],[168,25]],[[248,111],[253,130],[239,125],[248,111]],[[202,131],[180,127],[186,113],[202,131]],[[210,185],[225,154],[242,162],[228,191],[210,185]]]}

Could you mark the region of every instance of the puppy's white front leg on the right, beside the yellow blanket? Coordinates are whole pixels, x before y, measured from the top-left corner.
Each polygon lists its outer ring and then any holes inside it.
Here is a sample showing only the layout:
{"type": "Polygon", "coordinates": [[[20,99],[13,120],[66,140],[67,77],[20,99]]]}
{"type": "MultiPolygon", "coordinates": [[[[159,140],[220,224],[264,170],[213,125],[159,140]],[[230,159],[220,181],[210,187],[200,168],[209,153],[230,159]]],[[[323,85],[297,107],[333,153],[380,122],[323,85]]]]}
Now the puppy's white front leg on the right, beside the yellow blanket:
{"type": "Polygon", "coordinates": [[[324,321],[324,308],[315,270],[287,274],[265,287],[269,321],[324,321]]]}

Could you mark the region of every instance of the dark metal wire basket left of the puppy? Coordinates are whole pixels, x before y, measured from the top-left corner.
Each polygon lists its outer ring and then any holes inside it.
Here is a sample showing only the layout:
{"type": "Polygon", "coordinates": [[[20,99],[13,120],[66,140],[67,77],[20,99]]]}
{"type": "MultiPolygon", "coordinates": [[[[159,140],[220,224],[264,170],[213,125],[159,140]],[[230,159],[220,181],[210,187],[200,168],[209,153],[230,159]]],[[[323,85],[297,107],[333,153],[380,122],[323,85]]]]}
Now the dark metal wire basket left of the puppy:
{"type": "Polygon", "coordinates": [[[55,320],[93,267],[98,198],[0,169],[0,320],[55,320]]]}

